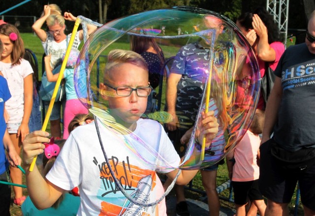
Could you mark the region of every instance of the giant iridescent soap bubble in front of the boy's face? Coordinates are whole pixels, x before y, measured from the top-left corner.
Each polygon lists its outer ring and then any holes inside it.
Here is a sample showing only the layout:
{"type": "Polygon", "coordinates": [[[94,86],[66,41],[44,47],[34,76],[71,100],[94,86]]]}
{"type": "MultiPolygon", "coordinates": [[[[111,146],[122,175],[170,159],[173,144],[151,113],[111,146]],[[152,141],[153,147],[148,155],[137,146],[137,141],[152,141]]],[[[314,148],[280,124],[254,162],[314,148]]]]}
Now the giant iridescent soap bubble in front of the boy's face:
{"type": "Polygon", "coordinates": [[[189,7],[142,12],[103,25],[84,44],[74,74],[78,98],[90,108],[97,122],[120,137],[121,144],[143,163],[158,170],[199,169],[220,161],[242,139],[252,121],[259,79],[251,46],[236,25],[215,12],[189,7]],[[177,88],[173,87],[177,90],[175,118],[179,130],[191,127],[193,130],[183,162],[178,166],[169,164],[158,146],[138,137],[113,117],[106,98],[115,97],[115,90],[100,89],[109,51],[130,50],[130,41],[135,37],[153,38],[165,57],[155,89],[158,111],[144,114],[142,118],[164,125],[174,120],[174,116],[165,112],[166,83],[169,74],[183,73],[177,88]],[[202,158],[196,134],[206,105],[215,111],[220,128],[202,158]]]}

